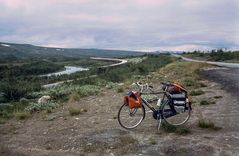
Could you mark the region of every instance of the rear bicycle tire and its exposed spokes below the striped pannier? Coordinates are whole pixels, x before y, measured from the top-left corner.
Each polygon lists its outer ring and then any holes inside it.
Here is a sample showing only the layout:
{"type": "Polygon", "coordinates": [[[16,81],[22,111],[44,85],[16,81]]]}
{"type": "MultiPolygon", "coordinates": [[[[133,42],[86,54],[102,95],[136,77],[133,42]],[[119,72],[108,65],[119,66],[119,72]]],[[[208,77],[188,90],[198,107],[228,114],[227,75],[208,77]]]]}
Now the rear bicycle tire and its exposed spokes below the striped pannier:
{"type": "Polygon", "coordinates": [[[185,124],[190,116],[191,116],[191,109],[188,106],[187,110],[184,110],[182,113],[178,113],[176,115],[173,115],[171,117],[166,117],[169,113],[173,113],[173,111],[169,108],[170,102],[166,101],[162,105],[162,118],[164,121],[169,125],[179,126],[185,124]]]}

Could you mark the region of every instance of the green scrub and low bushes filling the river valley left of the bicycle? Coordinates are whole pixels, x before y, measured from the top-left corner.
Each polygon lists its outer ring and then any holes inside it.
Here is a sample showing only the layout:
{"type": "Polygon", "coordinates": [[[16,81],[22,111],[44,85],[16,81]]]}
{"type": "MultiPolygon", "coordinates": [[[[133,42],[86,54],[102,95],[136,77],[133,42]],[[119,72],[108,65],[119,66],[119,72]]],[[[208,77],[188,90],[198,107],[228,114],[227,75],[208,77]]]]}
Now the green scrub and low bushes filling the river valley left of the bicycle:
{"type": "Polygon", "coordinates": [[[119,86],[118,83],[145,77],[175,60],[167,54],[147,55],[142,58],[144,59],[139,62],[108,68],[99,68],[99,66],[112,62],[86,58],[73,59],[73,61],[69,58],[65,60],[47,58],[25,60],[19,64],[2,64],[0,65],[0,118],[16,116],[18,119],[25,119],[28,117],[28,112],[41,110],[51,112],[66,101],[77,101],[85,96],[97,95],[102,88],[115,88],[117,92],[123,92],[126,86],[119,86]],[[39,76],[62,70],[65,65],[90,67],[90,70],[71,75],[39,76]],[[66,80],[73,81],[50,88],[42,87],[44,84],[66,80]],[[37,99],[44,95],[49,95],[51,100],[47,103],[38,103],[37,99]],[[14,115],[15,112],[18,113],[14,115]]]}

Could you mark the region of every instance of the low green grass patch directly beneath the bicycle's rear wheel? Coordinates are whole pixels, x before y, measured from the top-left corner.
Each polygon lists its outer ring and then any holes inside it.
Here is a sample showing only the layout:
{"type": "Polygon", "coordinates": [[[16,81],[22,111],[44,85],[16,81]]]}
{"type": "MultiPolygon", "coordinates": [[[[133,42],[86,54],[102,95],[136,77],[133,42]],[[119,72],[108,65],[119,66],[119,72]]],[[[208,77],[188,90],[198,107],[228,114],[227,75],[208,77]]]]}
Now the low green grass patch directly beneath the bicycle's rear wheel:
{"type": "Polygon", "coordinates": [[[161,127],[165,132],[168,132],[168,133],[176,133],[179,135],[187,135],[191,133],[190,128],[186,127],[185,125],[174,126],[174,125],[169,125],[166,122],[162,122],[161,127]]]}

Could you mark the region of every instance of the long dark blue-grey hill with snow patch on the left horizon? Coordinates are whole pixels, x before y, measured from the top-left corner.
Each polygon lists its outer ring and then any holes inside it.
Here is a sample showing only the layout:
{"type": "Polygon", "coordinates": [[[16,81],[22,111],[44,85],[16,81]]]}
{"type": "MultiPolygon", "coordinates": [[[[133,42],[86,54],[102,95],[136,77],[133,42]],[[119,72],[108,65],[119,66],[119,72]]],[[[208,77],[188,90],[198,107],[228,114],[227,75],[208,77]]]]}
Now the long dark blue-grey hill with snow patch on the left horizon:
{"type": "Polygon", "coordinates": [[[25,59],[44,57],[124,57],[140,56],[143,52],[104,50],[104,49],[79,49],[79,48],[51,48],[34,46],[30,44],[15,44],[0,42],[0,59],[25,59]]]}

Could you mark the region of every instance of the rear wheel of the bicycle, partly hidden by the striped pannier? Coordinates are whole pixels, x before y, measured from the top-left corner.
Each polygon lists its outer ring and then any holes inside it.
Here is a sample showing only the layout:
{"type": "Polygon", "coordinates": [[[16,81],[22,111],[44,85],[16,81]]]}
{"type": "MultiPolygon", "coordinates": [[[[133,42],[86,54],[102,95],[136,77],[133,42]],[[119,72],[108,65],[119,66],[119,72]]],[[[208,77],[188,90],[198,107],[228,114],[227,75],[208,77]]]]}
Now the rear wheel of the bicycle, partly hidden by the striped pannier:
{"type": "Polygon", "coordinates": [[[185,124],[191,115],[191,109],[188,103],[186,103],[186,108],[187,109],[184,109],[184,106],[175,106],[167,101],[162,108],[162,117],[170,125],[179,126],[185,124]],[[175,110],[172,109],[172,106],[175,110]]]}

